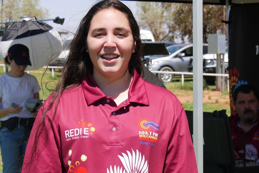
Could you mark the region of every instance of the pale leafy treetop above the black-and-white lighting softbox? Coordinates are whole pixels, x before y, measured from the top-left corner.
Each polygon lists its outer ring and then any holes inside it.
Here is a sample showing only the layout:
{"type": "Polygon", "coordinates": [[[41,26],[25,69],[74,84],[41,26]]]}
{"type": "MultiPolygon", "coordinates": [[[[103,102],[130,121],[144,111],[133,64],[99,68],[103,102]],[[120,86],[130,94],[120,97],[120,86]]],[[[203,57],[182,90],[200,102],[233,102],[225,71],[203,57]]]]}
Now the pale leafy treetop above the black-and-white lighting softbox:
{"type": "Polygon", "coordinates": [[[27,14],[31,17],[36,16],[37,19],[49,16],[48,10],[39,6],[39,0],[1,0],[1,21],[17,21],[20,16],[27,14]]]}

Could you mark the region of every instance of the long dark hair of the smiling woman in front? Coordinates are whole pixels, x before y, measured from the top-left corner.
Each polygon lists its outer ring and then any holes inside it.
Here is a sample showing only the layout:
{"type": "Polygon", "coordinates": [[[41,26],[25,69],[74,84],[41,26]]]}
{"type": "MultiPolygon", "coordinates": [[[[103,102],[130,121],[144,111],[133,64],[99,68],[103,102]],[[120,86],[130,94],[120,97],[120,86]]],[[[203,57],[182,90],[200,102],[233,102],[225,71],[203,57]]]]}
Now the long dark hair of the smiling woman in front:
{"type": "Polygon", "coordinates": [[[37,158],[37,153],[40,152],[39,150],[36,150],[36,146],[38,145],[38,139],[41,136],[41,131],[43,131],[44,128],[49,127],[56,115],[56,112],[54,112],[52,119],[48,120],[49,124],[45,124],[44,121],[47,111],[50,109],[56,110],[62,92],[74,86],[80,85],[82,81],[87,78],[87,70],[93,68],[93,63],[90,60],[89,54],[86,52],[87,34],[89,32],[90,23],[93,16],[99,11],[107,8],[114,8],[125,14],[128,18],[133,40],[136,42],[135,53],[133,53],[130,58],[128,69],[130,70],[130,73],[134,73],[133,69],[136,69],[139,74],[142,73],[141,56],[143,53],[143,48],[140,40],[139,26],[132,12],[126,5],[117,0],[102,0],[97,2],[92,6],[92,8],[90,8],[88,13],[81,20],[75,36],[70,43],[70,52],[64,64],[59,82],[57,83],[55,91],[51,96],[50,103],[47,106],[44,106],[44,109],[42,110],[42,118],[36,126],[34,146],[32,147],[31,156],[34,159],[37,158]]]}

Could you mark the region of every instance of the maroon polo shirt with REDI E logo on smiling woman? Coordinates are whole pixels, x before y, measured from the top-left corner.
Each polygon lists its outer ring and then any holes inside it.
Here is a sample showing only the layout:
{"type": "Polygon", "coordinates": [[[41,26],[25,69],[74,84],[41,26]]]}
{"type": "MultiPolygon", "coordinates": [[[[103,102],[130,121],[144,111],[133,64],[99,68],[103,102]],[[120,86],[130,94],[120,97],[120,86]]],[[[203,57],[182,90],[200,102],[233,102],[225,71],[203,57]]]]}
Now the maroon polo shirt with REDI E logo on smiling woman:
{"type": "MultiPolygon", "coordinates": [[[[46,124],[53,111],[47,113],[46,124]]],[[[39,138],[41,152],[27,166],[34,132],[35,126],[23,173],[197,172],[183,106],[174,94],[144,81],[136,70],[128,99],[118,106],[89,73],[82,85],[65,91],[53,124],[39,138]]]]}

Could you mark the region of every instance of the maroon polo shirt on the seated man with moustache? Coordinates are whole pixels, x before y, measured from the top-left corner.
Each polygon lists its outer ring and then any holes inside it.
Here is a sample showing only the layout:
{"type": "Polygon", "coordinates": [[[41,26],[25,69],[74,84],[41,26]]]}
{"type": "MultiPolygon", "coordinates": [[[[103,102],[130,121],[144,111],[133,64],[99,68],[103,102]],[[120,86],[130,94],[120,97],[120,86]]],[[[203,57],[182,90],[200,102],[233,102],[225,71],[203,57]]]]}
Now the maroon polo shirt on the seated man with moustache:
{"type": "Polygon", "coordinates": [[[234,150],[239,154],[239,159],[243,159],[245,139],[245,158],[259,162],[259,118],[257,118],[255,125],[246,133],[238,126],[239,120],[238,115],[229,117],[234,150]]]}

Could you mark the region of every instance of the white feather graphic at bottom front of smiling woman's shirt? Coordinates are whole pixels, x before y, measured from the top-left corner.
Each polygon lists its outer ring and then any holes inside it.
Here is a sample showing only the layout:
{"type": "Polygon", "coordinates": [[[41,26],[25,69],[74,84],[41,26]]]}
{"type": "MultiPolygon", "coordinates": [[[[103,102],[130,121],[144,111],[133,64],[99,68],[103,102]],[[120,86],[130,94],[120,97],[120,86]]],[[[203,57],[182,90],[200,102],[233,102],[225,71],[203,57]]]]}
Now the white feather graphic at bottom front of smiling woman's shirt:
{"type": "Polygon", "coordinates": [[[119,166],[116,168],[114,165],[114,170],[110,166],[110,170],[107,168],[107,173],[148,173],[148,161],[145,161],[145,156],[142,157],[138,150],[136,153],[133,149],[131,150],[132,154],[126,151],[128,155],[125,153],[121,153],[122,156],[118,155],[124,167],[123,172],[122,168],[119,168],[119,166]]]}

